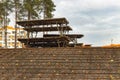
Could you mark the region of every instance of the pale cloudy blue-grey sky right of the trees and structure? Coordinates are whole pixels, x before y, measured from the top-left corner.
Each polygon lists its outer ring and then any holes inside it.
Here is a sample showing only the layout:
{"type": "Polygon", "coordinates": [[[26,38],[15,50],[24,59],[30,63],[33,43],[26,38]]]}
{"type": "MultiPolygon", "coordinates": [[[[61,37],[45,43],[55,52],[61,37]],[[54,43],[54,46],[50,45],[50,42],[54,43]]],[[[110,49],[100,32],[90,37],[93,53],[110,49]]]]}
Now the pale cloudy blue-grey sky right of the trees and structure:
{"type": "Polygon", "coordinates": [[[101,46],[120,43],[120,0],[53,0],[54,17],[66,17],[79,40],[101,46]]]}

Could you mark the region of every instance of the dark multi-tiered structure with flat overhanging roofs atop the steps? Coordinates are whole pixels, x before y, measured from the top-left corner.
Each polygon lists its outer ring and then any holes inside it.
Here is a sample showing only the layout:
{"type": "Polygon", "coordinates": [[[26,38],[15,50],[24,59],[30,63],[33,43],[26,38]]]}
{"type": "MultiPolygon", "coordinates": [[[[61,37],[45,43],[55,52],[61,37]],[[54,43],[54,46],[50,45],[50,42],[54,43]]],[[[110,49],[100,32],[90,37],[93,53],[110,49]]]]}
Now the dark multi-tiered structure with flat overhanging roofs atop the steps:
{"type": "Polygon", "coordinates": [[[27,47],[66,47],[77,45],[77,38],[83,37],[82,34],[69,34],[72,28],[68,26],[66,18],[52,18],[41,20],[17,21],[18,25],[27,31],[27,38],[18,39],[27,47]],[[48,32],[59,32],[59,34],[48,34],[48,32]],[[43,32],[43,37],[37,37],[39,32],[43,32]],[[35,35],[33,35],[35,34],[35,35]]]}

